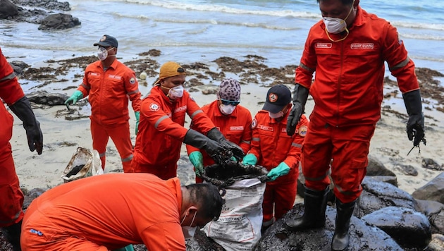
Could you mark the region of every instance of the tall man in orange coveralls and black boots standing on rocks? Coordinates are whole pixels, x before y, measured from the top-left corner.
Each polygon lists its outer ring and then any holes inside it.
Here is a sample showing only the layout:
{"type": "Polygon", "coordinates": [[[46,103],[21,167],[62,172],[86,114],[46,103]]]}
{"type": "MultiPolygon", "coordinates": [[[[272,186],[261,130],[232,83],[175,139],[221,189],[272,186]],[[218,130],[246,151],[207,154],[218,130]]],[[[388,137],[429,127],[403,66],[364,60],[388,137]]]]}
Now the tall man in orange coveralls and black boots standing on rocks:
{"type": "Polygon", "coordinates": [[[296,68],[288,135],[295,132],[308,94],[314,99],[305,139],[304,215],[287,221],[293,231],[325,225],[331,166],[337,215],[332,250],[345,250],[356,200],[362,192],[369,144],[381,117],[384,61],[407,108],[407,137],[419,147],[424,115],[414,63],[395,27],[359,6],[359,0],[318,0],[323,20],[312,26],[296,68]],[[314,82],[313,73],[316,71],[314,82]],[[333,161],[332,161],[333,159],[333,161]]]}

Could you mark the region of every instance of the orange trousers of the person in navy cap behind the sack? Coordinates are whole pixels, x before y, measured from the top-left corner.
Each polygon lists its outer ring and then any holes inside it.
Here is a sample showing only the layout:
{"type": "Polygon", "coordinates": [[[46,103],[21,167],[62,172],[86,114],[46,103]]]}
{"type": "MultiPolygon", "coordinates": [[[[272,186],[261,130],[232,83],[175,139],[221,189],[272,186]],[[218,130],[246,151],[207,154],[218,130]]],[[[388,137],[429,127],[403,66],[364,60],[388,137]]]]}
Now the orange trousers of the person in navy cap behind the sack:
{"type": "MultiPolygon", "coordinates": [[[[278,181],[278,180],[276,180],[278,181]]],[[[296,198],[297,178],[285,183],[266,183],[262,210],[264,223],[274,218],[280,219],[286,212],[292,209],[296,198]]],[[[271,223],[271,222],[270,222],[271,223]]]]}

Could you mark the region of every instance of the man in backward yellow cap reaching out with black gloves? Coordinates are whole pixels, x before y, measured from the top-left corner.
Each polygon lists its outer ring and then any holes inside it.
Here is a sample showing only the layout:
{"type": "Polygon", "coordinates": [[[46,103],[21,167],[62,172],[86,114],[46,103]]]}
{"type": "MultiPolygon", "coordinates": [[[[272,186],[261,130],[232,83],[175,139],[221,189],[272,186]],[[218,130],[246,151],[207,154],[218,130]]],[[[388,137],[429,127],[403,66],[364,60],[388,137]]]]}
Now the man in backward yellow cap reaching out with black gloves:
{"type": "Polygon", "coordinates": [[[178,63],[164,63],[151,93],[142,100],[132,160],[135,172],[153,173],[165,180],[175,177],[182,142],[204,149],[215,160],[225,161],[233,154],[242,159],[242,149],[226,140],[184,90],[185,74],[178,63]],[[200,133],[183,127],[185,114],[200,133]]]}

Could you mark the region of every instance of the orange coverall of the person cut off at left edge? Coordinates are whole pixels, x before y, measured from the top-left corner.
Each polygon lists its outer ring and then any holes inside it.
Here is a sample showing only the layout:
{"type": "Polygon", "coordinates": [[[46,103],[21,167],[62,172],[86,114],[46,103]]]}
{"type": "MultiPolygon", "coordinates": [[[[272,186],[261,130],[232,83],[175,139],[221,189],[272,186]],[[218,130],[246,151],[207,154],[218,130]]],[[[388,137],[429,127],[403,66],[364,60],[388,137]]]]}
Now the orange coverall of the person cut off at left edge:
{"type": "MultiPolygon", "coordinates": [[[[14,104],[24,97],[13,68],[0,49],[0,98],[14,104]]],[[[12,137],[13,116],[0,105],[0,227],[11,226],[23,218],[23,192],[20,190],[9,140],[12,137]]]]}

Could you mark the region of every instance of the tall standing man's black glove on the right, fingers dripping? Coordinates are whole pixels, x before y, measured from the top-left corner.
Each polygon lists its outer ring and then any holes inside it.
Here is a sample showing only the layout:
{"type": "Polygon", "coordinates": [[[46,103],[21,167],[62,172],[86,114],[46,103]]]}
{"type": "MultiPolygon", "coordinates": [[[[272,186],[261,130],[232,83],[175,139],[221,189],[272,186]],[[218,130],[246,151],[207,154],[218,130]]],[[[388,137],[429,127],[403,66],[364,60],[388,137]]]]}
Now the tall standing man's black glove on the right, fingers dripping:
{"type": "Polygon", "coordinates": [[[409,121],[407,121],[407,137],[413,140],[413,146],[419,147],[422,141],[426,145],[424,133],[424,114],[422,113],[421,93],[419,90],[402,94],[409,121]]]}

